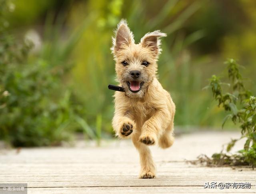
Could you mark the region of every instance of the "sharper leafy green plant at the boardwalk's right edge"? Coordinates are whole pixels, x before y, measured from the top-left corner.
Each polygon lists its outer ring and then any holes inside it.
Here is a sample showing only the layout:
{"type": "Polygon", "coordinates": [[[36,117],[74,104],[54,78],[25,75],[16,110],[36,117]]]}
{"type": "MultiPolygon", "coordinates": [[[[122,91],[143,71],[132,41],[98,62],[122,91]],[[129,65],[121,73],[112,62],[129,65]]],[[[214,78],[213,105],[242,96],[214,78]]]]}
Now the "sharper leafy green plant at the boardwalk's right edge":
{"type": "MultiPolygon", "coordinates": [[[[225,62],[228,65],[228,77],[231,80],[231,93],[223,93],[220,79],[213,75],[210,84],[206,88],[211,88],[213,97],[218,101],[218,106],[222,106],[225,111],[230,112],[223,121],[231,119],[234,124],[240,124],[241,138],[246,138],[244,148],[238,151],[238,154],[218,153],[213,154],[212,159],[201,158],[208,164],[216,165],[250,165],[252,168],[256,165],[256,97],[244,87],[243,78],[239,72],[240,65],[234,59],[225,62]],[[206,160],[204,160],[206,159],[206,160]]],[[[230,85],[230,84],[228,84],[230,85]]],[[[229,152],[236,141],[233,139],[228,144],[226,151],[229,152]]]]}

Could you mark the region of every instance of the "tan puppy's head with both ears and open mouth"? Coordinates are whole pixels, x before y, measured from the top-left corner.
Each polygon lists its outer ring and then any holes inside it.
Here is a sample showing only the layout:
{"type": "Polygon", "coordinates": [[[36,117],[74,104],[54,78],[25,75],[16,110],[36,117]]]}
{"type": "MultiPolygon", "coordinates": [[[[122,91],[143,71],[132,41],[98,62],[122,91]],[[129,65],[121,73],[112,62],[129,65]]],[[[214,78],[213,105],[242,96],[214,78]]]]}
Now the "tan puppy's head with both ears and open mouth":
{"type": "Polygon", "coordinates": [[[133,34],[126,20],[121,20],[115,31],[111,48],[116,61],[118,81],[130,98],[141,98],[156,77],[158,55],[161,52],[159,38],[166,34],[159,30],[145,34],[139,44],[134,43],[133,34]]]}

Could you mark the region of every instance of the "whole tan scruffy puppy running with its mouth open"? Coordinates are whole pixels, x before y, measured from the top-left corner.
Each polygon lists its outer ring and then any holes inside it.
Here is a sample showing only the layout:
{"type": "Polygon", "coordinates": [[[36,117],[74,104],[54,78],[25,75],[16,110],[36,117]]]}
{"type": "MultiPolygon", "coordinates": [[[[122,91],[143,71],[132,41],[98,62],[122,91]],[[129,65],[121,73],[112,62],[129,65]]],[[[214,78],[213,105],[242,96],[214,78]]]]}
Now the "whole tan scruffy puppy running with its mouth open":
{"type": "Polygon", "coordinates": [[[116,74],[125,92],[115,92],[115,114],[112,120],[116,135],[132,138],[140,153],[140,178],[154,178],[155,166],[149,145],[168,148],[174,142],[175,104],[158,82],[157,60],[161,52],[159,30],[145,34],[139,44],[126,20],[121,20],[111,48],[116,74]]]}

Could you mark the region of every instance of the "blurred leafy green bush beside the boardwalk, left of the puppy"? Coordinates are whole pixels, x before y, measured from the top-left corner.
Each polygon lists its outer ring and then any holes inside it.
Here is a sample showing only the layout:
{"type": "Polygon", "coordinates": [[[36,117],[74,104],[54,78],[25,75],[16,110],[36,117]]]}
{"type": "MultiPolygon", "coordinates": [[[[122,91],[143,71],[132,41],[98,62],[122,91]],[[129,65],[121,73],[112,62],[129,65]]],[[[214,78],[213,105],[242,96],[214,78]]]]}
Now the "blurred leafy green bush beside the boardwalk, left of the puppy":
{"type": "Polygon", "coordinates": [[[54,94],[66,67],[42,59],[28,63],[30,46],[17,42],[13,36],[1,38],[0,138],[14,146],[59,144],[68,138],[64,129],[72,111],[68,90],[54,94]]]}

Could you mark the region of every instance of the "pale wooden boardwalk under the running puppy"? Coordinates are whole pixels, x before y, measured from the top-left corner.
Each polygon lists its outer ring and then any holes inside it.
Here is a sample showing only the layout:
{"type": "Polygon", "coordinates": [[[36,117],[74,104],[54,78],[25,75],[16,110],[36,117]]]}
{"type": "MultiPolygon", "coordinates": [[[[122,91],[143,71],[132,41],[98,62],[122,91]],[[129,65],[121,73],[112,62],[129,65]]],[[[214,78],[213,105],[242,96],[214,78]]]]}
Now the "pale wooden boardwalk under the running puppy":
{"type": "MultiPolygon", "coordinates": [[[[197,132],[176,137],[172,148],[152,146],[154,179],[139,179],[139,156],[130,140],[78,142],[74,147],[0,150],[0,183],[28,183],[28,193],[255,193],[256,170],[208,168],[184,160],[210,156],[237,132],[197,132]],[[204,188],[205,182],[249,182],[250,189],[204,188]]],[[[235,149],[239,149],[237,145],[235,149]]],[[[240,147],[241,148],[241,147],[240,147]]],[[[0,193],[1,193],[0,188],[0,193]]]]}

